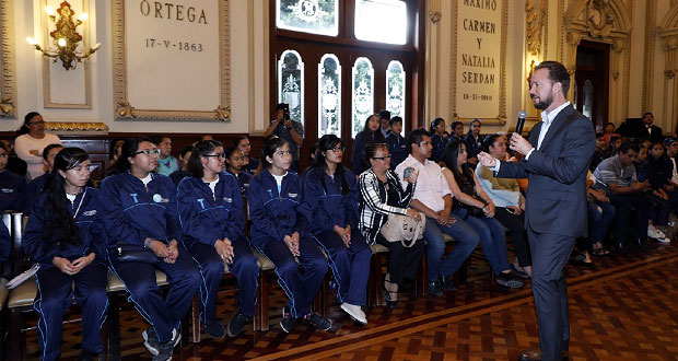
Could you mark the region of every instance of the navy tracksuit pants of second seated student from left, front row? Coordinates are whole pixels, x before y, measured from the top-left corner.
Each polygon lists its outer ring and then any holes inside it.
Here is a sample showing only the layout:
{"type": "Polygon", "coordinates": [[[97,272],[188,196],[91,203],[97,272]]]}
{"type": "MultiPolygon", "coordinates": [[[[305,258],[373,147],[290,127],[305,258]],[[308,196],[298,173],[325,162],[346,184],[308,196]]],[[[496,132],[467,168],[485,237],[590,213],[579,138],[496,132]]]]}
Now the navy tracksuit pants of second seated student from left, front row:
{"type": "Polygon", "coordinates": [[[179,327],[182,318],[190,308],[194,295],[201,284],[198,265],[184,246],[174,264],[161,260],[156,265],[147,263],[120,263],[115,252],[108,253],[110,270],[125,282],[129,300],[157,334],[157,340],[167,342],[172,330],[179,327]],[[155,268],[167,275],[170,292],[165,300],[160,295],[155,280],[155,268]]]}

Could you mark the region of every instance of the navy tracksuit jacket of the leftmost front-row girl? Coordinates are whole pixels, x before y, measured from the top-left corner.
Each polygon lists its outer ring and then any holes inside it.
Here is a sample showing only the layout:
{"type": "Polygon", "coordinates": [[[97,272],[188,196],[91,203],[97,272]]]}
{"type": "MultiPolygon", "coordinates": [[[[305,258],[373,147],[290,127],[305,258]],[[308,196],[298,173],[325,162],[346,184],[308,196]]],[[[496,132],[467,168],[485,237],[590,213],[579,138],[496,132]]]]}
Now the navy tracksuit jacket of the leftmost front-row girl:
{"type": "MultiPolygon", "coordinates": [[[[45,266],[52,266],[52,258],[58,256],[73,260],[90,253],[95,253],[96,258],[103,260],[104,245],[106,243],[105,233],[101,229],[101,212],[98,207],[98,190],[90,187],[83,188],[75,196],[75,200],[69,203],[71,216],[75,216],[75,226],[78,226],[78,235],[80,244],[61,244],[57,241],[57,245],[47,244],[45,242],[46,233],[54,233],[55,230],[48,223],[47,207],[49,201],[48,194],[42,194],[35,201],[35,207],[24,232],[23,247],[33,259],[45,266]],[[82,202],[82,203],[81,203],[82,202]],[[78,211],[78,214],[75,214],[78,211]]],[[[65,196],[66,197],[66,196],[65,196]]]]}

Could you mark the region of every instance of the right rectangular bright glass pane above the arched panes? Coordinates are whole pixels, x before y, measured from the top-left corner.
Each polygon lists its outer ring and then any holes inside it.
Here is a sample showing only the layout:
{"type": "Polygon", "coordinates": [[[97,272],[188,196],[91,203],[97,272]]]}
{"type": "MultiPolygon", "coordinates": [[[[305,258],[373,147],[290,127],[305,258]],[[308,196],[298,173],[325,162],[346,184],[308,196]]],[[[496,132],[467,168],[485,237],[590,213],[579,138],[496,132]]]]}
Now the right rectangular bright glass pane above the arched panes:
{"type": "Polygon", "coordinates": [[[407,4],[401,0],[355,0],[355,37],[361,40],[405,44],[407,4]]]}

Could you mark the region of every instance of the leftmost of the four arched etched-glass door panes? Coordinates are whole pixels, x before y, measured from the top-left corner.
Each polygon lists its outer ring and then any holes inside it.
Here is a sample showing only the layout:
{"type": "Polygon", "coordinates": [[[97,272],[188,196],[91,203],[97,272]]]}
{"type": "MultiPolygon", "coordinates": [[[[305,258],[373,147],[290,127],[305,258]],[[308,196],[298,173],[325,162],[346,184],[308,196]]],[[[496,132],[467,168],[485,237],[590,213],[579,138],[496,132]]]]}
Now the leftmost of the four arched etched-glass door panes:
{"type": "Polygon", "coordinates": [[[290,105],[290,118],[304,124],[304,62],[295,50],[284,50],[278,61],[278,98],[290,105]]]}

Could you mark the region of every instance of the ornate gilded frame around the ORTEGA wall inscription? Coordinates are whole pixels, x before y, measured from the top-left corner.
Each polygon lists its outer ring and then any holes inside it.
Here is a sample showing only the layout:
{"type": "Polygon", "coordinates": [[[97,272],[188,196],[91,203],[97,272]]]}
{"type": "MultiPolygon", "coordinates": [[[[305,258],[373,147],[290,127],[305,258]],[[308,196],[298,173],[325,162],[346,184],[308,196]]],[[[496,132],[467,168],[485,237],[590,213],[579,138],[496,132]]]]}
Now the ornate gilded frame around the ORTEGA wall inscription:
{"type": "Polygon", "coordinates": [[[220,104],[213,110],[138,109],[127,98],[125,0],[113,0],[113,85],[115,118],[138,120],[218,120],[231,121],[231,21],[230,1],[219,2],[220,104]]]}

